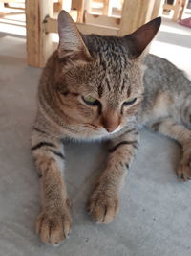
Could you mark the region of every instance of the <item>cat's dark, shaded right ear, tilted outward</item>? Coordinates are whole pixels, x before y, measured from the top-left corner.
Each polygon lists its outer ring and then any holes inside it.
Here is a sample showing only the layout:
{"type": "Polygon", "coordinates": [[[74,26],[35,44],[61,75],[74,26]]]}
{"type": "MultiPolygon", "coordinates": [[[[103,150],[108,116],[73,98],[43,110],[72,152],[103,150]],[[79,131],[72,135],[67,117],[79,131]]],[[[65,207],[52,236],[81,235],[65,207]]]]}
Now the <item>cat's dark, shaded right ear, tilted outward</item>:
{"type": "Polygon", "coordinates": [[[155,18],[141,26],[137,31],[123,37],[125,44],[129,49],[130,58],[138,58],[147,45],[152,41],[159,31],[161,18],[155,18]]]}

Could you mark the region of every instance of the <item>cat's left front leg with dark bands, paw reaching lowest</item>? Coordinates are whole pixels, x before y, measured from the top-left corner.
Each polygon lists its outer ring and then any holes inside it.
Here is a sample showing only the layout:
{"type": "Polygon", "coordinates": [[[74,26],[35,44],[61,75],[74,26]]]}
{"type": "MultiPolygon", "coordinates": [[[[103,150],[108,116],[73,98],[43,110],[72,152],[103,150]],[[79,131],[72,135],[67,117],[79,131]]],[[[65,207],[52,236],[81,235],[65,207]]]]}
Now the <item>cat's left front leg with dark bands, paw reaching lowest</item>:
{"type": "Polygon", "coordinates": [[[36,232],[44,243],[59,244],[69,235],[72,226],[71,205],[62,176],[62,142],[34,128],[32,154],[41,181],[41,213],[36,232]]]}

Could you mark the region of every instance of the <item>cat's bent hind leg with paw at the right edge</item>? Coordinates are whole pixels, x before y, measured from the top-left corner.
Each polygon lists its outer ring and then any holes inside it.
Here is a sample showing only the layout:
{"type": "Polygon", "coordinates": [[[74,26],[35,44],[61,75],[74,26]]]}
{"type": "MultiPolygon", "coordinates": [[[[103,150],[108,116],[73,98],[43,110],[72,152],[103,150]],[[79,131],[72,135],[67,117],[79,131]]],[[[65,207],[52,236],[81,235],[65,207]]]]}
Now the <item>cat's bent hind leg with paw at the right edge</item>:
{"type": "Polygon", "coordinates": [[[181,180],[191,179],[191,130],[168,117],[148,125],[159,133],[178,141],[182,147],[182,159],[177,175],[181,180]]]}

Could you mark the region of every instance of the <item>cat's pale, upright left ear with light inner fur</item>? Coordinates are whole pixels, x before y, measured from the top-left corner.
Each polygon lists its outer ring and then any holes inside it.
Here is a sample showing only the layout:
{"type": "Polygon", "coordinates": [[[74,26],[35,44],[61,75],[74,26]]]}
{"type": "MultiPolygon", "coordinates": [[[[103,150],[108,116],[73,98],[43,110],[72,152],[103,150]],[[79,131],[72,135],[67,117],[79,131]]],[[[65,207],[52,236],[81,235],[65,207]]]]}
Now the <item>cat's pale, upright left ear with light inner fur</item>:
{"type": "Polygon", "coordinates": [[[58,57],[90,61],[91,55],[70,14],[62,10],[58,15],[58,57]]]}

